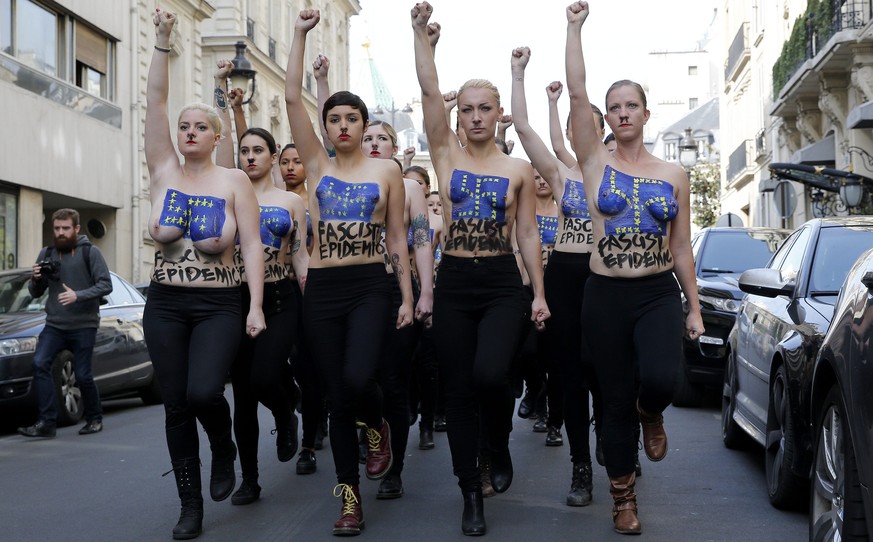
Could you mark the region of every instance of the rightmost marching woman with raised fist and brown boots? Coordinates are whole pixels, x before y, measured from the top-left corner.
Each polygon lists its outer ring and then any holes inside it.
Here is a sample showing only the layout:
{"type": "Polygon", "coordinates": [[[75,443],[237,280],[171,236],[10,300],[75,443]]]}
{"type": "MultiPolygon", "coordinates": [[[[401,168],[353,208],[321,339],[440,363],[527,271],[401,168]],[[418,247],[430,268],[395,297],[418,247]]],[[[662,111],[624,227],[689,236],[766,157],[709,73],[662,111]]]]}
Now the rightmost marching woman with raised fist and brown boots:
{"type": "Polygon", "coordinates": [[[704,329],[691,256],[688,176],[646,150],[646,96],[631,81],[613,83],[606,93],[606,122],[617,147],[610,153],[601,143],[585,89],[581,38],[588,13],[587,2],[566,10],[573,149],[588,180],[594,234],[582,323],[602,394],[615,530],[639,534],[634,427],[642,423],[649,459],[662,460],[667,435],[661,413],[673,397],[682,334],[694,340],[704,329]],[[684,330],[680,290],[688,303],[684,330]]]}

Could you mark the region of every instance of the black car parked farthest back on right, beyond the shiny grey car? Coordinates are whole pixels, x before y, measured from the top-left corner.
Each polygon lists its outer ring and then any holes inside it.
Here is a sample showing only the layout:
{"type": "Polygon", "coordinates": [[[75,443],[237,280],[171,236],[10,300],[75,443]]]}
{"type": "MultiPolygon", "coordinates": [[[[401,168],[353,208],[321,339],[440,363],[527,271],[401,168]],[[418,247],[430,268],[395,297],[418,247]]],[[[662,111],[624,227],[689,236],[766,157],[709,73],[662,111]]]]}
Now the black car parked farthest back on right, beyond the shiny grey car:
{"type": "MultiPolygon", "coordinates": [[[[724,381],[727,337],[743,298],[737,279],[746,269],[767,265],[790,233],[775,228],[703,228],[691,239],[706,333],[698,339],[683,339],[674,405],[696,406],[705,389],[711,389],[713,397],[717,397],[724,381]]],[[[688,305],[682,306],[687,316],[688,305]]]]}

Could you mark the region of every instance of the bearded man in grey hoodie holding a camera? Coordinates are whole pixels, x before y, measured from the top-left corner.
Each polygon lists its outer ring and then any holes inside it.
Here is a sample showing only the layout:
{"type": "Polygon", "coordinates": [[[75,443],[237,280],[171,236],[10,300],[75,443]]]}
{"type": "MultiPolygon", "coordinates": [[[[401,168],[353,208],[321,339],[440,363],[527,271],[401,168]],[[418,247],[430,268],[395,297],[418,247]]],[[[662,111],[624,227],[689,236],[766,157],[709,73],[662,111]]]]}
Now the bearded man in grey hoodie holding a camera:
{"type": "Polygon", "coordinates": [[[33,359],[33,386],[39,404],[34,425],[19,427],[26,437],[55,436],[58,399],[52,365],[61,350],[73,354],[76,382],[85,403],[80,435],[103,430],[100,393],[91,375],[91,355],[100,325],[100,299],[112,292],[109,267],[86,235],[79,235],[79,213],[59,209],[52,214],[54,245],[40,250],[28,289],[34,299],[46,289],[45,328],[39,334],[33,359]]]}

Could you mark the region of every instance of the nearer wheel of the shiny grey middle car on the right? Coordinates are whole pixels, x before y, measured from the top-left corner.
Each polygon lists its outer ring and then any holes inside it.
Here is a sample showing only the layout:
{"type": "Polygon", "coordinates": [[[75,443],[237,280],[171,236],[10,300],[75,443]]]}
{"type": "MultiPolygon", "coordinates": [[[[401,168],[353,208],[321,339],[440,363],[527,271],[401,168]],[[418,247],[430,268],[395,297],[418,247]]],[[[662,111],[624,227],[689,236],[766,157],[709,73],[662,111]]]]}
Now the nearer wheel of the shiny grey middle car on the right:
{"type": "Polygon", "coordinates": [[[805,480],[791,472],[794,460],[794,419],[788,399],[785,367],[776,369],[770,381],[767,430],[764,436],[764,470],[767,495],[776,508],[797,508],[806,495],[805,480]]]}

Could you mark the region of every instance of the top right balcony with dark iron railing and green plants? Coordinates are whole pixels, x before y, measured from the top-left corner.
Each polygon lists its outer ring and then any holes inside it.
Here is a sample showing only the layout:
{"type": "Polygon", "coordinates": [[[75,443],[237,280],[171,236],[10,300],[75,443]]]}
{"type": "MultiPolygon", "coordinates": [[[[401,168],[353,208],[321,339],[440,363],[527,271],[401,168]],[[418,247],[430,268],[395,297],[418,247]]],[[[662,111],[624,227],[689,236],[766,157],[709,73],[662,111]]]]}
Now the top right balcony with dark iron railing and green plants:
{"type": "MultiPolygon", "coordinates": [[[[870,0],[811,0],[794,23],[791,36],[773,65],[773,97],[777,98],[807,60],[824,56],[830,39],[843,30],[863,28],[873,18],[870,0]]],[[[855,41],[857,36],[847,36],[855,41]]]]}

